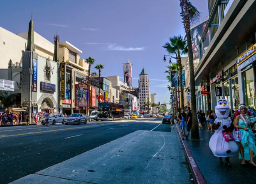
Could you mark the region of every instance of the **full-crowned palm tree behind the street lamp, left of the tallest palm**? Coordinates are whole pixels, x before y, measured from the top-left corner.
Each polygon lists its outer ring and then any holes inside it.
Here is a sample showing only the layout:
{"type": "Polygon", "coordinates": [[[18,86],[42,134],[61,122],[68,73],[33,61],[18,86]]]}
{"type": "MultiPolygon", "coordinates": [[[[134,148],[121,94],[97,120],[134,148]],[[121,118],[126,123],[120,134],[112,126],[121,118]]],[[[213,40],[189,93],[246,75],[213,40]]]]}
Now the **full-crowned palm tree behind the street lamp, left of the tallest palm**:
{"type": "MultiPolygon", "coordinates": [[[[180,77],[180,101],[181,107],[184,108],[184,97],[183,97],[183,88],[182,88],[182,64],[181,64],[181,55],[187,54],[187,41],[183,39],[182,36],[173,36],[169,38],[170,42],[166,42],[163,48],[166,49],[171,55],[175,55],[178,61],[179,66],[179,77],[180,77]]],[[[178,84],[179,85],[179,84],[178,84]]]]}

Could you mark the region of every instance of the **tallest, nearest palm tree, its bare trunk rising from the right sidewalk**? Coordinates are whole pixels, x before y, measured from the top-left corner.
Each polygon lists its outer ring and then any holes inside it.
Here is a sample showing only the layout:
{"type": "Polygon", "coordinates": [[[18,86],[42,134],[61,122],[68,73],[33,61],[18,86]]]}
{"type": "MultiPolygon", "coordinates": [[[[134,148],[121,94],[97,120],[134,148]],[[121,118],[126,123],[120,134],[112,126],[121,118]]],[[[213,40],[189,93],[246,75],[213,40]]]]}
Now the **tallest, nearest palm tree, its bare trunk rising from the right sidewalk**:
{"type": "Polygon", "coordinates": [[[193,52],[192,52],[192,41],[190,33],[190,21],[192,23],[197,22],[200,19],[200,12],[194,7],[188,0],[180,0],[181,16],[187,37],[187,48],[188,48],[188,58],[190,65],[190,92],[191,92],[191,107],[192,107],[192,131],[191,139],[199,139],[198,123],[196,116],[196,93],[195,93],[195,81],[194,81],[194,62],[193,62],[193,52]]]}

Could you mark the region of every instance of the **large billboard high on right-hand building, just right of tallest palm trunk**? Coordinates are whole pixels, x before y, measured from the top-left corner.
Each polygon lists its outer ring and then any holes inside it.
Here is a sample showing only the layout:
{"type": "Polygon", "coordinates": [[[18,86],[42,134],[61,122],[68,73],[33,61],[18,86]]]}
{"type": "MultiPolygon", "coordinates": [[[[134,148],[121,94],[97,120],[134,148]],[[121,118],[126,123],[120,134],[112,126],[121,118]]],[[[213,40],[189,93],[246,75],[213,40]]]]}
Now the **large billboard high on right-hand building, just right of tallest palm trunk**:
{"type": "MultiPolygon", "coordinates": [[[[199,42],[202,38],[202,34],[204,32],[204,29],[206,27],[207,21],[203,22],[202,24],[199,24],[198,26],[191,29],[191,39],[192,39],[192,48],[193,48],[193,59],[199,59],[199,42]]],[[[206,34],[205,39],[209,40],[209,32],[206,34]]],[[[209,46],[209,41],[204,41],[204,51],[209,46]]]]}

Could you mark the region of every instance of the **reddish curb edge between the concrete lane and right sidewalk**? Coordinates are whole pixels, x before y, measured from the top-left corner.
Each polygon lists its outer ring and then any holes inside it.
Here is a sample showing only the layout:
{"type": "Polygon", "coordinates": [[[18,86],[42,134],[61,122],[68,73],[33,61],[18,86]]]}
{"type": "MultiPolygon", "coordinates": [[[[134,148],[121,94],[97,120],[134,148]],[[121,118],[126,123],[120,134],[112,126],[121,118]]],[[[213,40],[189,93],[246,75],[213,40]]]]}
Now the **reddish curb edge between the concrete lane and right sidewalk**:
{"type": "Polygon", "coordinates": [[[186,143],[186,140],[182,140],[182,134],[181,134],[181,131],[180,131],[180,127],[177,126],[177,123],[175,123],[176,125],[176,130],[179,134],[179,137],[180,137],[180,141],[182,143],[182,147],[183,147],[183,150],[184,150],[184,153],[185,153],[185,157],[187,158],[187,161],[188,161],[188,165],[190,166],[190,171],[192,173],[192,176],[193,176],[193,179],[194,179],[194,183],[195,184],[207,184],[205,179],[204,179],[204,176],[202,175],[198,165],[197,165],[197,162],[194,160],[194,157],[190,151],[190,148],[188,147],[187,143],[186,143]]]}

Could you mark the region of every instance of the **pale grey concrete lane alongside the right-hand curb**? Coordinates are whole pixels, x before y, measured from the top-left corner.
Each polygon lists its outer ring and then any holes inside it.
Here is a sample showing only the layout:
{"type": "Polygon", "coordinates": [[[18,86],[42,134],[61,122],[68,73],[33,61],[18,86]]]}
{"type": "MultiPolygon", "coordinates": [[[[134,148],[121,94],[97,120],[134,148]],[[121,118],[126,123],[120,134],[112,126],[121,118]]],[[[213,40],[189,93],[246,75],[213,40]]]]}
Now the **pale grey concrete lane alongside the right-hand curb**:
{"type": "Polygon", "coordinates": [[[135,131],[11,184],[191,184],[176,131],[135,131]]]}

